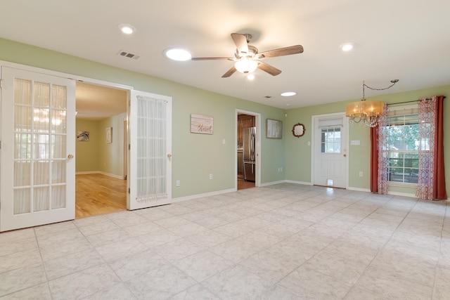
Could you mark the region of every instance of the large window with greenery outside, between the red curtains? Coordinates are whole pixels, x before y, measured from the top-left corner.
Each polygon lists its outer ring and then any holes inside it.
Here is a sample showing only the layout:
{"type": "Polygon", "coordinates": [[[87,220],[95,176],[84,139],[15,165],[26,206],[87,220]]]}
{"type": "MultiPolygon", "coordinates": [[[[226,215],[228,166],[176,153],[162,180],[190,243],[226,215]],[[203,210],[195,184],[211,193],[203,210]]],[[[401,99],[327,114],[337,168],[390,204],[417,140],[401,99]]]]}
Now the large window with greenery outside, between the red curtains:
{"type": "Polygon", "coordinates": [[[398,115],[398,113],[398,110],[394,110],[388,113],[387,117],[385,143],[388,159],[387,181],[418,183],[418,114],[398,115]]]}

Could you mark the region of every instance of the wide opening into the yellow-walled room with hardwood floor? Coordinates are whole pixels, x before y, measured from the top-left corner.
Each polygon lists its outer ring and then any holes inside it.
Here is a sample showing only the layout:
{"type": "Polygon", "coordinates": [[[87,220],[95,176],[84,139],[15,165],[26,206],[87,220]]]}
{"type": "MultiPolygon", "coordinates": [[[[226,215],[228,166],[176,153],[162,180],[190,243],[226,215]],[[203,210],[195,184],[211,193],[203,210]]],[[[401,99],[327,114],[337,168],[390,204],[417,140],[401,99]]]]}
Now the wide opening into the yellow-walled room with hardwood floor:
{"type": "Polygon", "coordinates": [[[127,91],[78,81],[75,101],[75,218],[124,211],[127,91]]]}

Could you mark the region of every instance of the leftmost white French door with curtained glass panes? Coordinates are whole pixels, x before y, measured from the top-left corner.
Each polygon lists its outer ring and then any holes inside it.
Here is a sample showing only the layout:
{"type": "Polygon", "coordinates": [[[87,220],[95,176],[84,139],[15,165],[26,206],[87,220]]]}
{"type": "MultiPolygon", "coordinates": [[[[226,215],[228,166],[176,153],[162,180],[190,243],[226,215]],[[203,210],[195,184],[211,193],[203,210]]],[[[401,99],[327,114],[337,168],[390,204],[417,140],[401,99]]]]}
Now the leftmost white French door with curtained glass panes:
{"type": "Polygon", "coordinates": [[[0,231],[75,219],[75,81],[1,67],[0,231]]]}

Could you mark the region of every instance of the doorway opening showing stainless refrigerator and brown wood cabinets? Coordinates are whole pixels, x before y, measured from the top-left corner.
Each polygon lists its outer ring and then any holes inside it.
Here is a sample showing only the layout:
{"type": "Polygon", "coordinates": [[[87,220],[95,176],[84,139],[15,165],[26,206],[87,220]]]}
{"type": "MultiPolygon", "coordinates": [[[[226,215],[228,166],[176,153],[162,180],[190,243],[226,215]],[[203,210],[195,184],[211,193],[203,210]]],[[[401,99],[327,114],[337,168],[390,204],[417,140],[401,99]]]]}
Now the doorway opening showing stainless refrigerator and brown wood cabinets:
{"type": "Polygon", "coordinates": [[[260,115],[236,110],[236,189],[255,188],[260,181],[260,115]]]}

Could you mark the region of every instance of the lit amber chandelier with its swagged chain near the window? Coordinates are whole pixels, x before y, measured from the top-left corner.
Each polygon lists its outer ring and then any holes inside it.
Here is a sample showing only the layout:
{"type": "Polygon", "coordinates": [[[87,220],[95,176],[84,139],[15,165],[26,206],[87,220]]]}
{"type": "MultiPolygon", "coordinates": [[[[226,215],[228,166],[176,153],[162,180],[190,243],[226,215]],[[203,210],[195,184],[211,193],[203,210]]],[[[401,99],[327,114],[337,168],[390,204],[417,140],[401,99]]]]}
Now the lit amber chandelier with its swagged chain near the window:
{"type": "Polygon", "coordinates": [[[383,89],[371,88],[363,81],[363,98],[361,98],[361,101],[345,105],[345,116],[349,117],[349,123],[351,125],[377,126],[380,116],[383,115],[385,103],[379,100],[366,100],[365,88],[383,91],[390,89],[394,84],[397,84],[398,81],[399,79],[392,79],[392,84],[383,89]]]}

